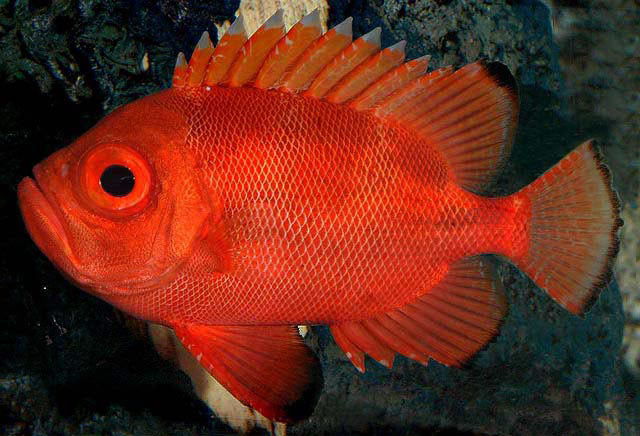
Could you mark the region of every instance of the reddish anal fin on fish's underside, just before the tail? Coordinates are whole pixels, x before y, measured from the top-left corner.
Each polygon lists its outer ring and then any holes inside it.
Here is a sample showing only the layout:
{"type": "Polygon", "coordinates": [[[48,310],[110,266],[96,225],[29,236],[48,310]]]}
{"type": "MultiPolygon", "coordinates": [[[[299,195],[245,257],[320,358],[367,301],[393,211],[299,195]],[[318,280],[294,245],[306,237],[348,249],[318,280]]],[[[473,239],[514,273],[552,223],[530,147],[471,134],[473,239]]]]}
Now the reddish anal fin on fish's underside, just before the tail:
{"type": "Polygon", "coordinates": [[[358,370],[364,354],[391,367],[395,353],[422,364],[459,366],[496,334],[507,310],[491,263],[462,259],[417,300],[363,321],[331,326],[336,342],[358,370]]]}

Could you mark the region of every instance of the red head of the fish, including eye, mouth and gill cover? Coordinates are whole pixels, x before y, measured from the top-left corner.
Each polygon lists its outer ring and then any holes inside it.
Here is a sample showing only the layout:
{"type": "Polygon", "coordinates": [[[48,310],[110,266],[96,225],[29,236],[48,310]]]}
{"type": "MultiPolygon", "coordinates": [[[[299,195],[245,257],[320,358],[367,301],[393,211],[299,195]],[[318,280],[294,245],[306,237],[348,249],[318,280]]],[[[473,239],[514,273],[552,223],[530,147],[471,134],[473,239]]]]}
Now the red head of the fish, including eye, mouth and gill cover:
{"type": "Polygon", "coordinates": [[[80,288],[109,300],[162,288],[206,232],[211,202],[165,91],[123,106],[18,186],[26,228],[80,288]]]}

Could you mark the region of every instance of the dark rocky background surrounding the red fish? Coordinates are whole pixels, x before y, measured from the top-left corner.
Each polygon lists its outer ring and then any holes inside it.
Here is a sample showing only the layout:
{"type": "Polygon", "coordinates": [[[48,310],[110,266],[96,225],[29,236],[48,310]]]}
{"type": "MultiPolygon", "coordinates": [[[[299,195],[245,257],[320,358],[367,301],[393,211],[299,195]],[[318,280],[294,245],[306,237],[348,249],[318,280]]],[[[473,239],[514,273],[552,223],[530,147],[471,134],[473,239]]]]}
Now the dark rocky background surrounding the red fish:
{"type": "MultiPolygon", "coordinates": [[[[272,0],[273,1],[273,0],[272,0]]],[[[166,88],[179,51],[238,1],[0,0],[0,434],[233,434],[162,360],[140,325],[69,284],[20,217],[33,165],[115,107],[166,88]]],[[[512,159],[489,194],[516,191],[596,138],[625,227],[615,278],[582,318],[515,267],[510,307],[464,368],[399,356],[359,374],[313,327],[325,387],[291,435],[640,434],[640,2],[329,1],[329,27],[382,27],[430,69],[506,64],[520,91],[512,159]]],[[[260,434],[259,430],[256,433],[260,434]]]]}

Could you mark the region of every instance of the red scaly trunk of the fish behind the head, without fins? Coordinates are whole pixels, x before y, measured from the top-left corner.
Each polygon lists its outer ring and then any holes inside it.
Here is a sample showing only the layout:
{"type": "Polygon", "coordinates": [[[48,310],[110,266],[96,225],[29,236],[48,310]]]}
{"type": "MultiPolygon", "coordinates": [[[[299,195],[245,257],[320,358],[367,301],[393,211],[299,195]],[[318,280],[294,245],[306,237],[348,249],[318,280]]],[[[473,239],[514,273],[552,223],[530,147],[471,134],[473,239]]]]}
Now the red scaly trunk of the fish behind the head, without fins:
{"type": "Polygon", "coordinates": [[[526,201],[463,190],[427,141],[370,114],[253,88],[171,89],[142,104],[179,114],[176,141],[210,202],[210,234],[163,278],[162,299],[111,300],[143,319],[365,319],[458,259],[526,251],[526,201]]]}

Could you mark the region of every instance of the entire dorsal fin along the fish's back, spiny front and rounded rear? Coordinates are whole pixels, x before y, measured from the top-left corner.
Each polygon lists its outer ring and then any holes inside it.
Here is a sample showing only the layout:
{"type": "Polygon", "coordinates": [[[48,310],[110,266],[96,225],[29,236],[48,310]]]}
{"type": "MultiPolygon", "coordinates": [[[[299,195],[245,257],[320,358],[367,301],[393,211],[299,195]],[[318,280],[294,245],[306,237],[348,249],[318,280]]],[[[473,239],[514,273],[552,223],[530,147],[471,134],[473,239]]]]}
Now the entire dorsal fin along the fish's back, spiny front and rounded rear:
{"type": "Polygon", "coordinates": [[[424,138],[462,187],[485,189],[515,136],[518,97],[509,70],[477,62],[425,74],[428,57],[399,65],[403,42],[380,52],[379,28],[352,43],[351,23],[347,18],[320,35],[314,11],[285,35],[280,10],[247,40],[238,18],[215,49],[205,33],[188,64],[178,56],[173,86],[304,91],[305,97],[371,111],[424,138]]]}

